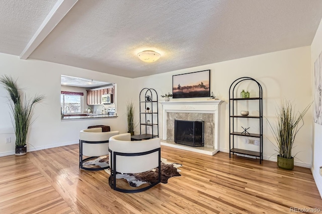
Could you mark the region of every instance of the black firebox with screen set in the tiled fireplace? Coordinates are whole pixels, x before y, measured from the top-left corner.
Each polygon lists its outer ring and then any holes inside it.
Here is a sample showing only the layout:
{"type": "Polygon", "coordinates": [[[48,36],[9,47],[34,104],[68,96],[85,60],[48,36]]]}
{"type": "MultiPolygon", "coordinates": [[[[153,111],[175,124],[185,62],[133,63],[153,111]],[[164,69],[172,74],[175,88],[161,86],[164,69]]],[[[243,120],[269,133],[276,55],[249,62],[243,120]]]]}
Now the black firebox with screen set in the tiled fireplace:
{"type": "Polygon", "coordinates": [[[204,121],[175,120],[175,142],[190,147],[203,147],[204,121]]]}

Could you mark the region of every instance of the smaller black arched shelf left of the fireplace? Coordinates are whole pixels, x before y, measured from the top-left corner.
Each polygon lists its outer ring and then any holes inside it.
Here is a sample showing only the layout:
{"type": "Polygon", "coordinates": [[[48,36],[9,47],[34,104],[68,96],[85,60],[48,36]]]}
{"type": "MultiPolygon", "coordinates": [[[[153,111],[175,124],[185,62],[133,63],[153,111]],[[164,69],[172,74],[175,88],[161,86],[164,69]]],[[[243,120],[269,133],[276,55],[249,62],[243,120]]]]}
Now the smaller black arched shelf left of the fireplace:
{"type": "Polygon", "coordinates": [[[144,88],[140,92],[140,135],[144,139],[158,137],[158,102],[154,89],[144,88]]]}

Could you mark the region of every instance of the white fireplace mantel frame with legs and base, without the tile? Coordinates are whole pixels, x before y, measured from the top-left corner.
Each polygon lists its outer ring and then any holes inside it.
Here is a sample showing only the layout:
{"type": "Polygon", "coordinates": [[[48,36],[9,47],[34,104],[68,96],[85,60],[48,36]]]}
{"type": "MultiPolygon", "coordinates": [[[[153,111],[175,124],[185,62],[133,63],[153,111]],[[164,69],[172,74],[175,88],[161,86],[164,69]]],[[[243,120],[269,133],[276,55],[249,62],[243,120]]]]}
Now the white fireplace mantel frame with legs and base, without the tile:
{"type": "Polygon", "coordinates": [[[180,145],[167,145],[179,149],[185,149],[189,151],[199,152],[207,155],[214,155],[219,152],[219,111],[221,100],[202,100],[202,101],[162,101],[159,102],[163,106],[163,139],[167,139],[167,113],[179,112],[179,113],[209,113],[214,114],[214,149],[211,152],[205,152],[189,147],[183,147],[180,145]]]}

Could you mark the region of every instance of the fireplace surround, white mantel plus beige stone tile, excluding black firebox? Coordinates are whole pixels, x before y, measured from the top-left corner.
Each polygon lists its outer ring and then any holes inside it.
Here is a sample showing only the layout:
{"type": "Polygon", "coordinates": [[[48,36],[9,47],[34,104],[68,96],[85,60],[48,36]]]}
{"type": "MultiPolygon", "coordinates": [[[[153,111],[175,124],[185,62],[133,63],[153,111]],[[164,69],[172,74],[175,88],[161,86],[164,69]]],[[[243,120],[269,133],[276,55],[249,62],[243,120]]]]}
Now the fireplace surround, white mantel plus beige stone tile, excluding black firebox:
{"type": "Polygon", "coordinates": [[[219,115],[221,100],[159,102],[163,106],[163,140],[161,145],[214,155],[219,152],[219,115]],[[205,121],[205,147],[175,144],[175,119],[205,121]]]}

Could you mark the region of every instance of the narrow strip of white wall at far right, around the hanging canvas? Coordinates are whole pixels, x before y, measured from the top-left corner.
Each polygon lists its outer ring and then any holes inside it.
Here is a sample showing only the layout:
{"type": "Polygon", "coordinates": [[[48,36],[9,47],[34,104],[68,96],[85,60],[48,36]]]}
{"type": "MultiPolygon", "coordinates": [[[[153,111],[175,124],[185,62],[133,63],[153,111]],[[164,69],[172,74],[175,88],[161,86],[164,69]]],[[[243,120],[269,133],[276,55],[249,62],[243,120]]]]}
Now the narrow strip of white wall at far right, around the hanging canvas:
{"type": "MultiPolygon", "coordinates": [[[[318,26],[315,37],[311,44],[311,76],[312,76],[312,91],[314,91],[314,62],[318,55],[322,52],[322,20],[318,26]]],[[[322,176],[319,174],[319,167],[322,166],[322,125],[313,123],[313,164],[312,174],[322,197],[322,176]]]]}

